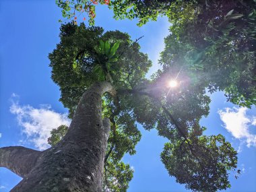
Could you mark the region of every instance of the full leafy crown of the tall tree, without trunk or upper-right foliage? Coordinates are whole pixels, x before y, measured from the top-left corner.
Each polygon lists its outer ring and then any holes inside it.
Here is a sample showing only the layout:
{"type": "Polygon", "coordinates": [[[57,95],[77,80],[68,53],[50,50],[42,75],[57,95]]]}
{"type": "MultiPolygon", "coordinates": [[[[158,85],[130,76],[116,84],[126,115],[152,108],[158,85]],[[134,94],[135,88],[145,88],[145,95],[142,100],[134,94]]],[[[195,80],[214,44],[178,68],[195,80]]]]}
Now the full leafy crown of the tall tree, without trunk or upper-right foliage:
{"type": "Polygon", "coordinates": [[[61,42],[49,59],[52,78],[60,86],[60,100],[69,108],[69,117],[84,90],[94,82],[111,80],[117,90],[115,98],[104,96],[102,106],[103,116],[111,122],[105,191],[124,191],[132,178],[133,170],[121,159],[125,153],[135,154],[135,145],[141,138],[135,122],[145,129],[158,129],[159,135],[170,140],[161,158],[177,182],[195,191],[230,187],[227,171],[236,168],[236,152],[222,135],[202,135],[205,127],[199,125],[199,119],[209,113],[205,82],[193,81],[189,69],[175,67],[146,79],[151,62],[139,52],[137,42],[119,31],[103,33],[102,28],[70,23],[61,27],[60,37],[61,42]],[[117,59],[113,61],[110,52],[117,46],[117,59]],[[95,70],[97,66],[105,75],[95,70]],[[168,87],[174,75],[183,79],[179,81],[179,91],[168,87]],[[206,182],[205,178],[209,180],[206,182]]]}

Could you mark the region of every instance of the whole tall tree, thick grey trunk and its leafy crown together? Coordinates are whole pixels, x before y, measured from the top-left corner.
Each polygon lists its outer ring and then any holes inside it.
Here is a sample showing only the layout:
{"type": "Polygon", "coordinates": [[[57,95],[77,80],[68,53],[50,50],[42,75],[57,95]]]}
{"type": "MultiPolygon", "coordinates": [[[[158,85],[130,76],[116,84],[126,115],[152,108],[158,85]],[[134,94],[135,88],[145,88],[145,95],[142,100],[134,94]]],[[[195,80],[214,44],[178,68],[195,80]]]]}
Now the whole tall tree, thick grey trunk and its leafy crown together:
{"type": "Polygon", "coordinates": [[[104,191],[125,191],[133,171],[121,158],[135,154],[141,137],[136,121],[170,140],[161,158],[177,182],[194,191],[230,187],[236,152],[222,135],[203,135],[199,125],[209,113],[207,82],[194,81],[189,69],[179,67],[146,79],[151,62],[119,31],[71,23],[61,27],[60,37],[49,59],[72,122],[44,152],[1,148],[0,166],[24,178],[12,191],[102,191],[103,182],[104,191]],[[178,74],[183,82],[175,91],[168,82],[178,74]]]}

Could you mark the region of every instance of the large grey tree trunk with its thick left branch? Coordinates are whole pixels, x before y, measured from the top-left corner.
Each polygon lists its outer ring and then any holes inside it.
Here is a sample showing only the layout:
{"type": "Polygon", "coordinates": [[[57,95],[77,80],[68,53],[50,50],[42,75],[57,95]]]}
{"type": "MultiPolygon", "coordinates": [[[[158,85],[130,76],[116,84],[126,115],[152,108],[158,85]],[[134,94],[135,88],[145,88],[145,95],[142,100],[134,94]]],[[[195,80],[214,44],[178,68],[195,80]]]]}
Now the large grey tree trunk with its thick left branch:
{"type": "Polygon", "coordinates": [[[104,156],[110,131],[102,121],[102,94],[108,82],[94,84],[79,101],[65,137],[38,152],[22,147],[0,149],[0,166],[23,177],[11,191],[102,191],[104,156]]]}

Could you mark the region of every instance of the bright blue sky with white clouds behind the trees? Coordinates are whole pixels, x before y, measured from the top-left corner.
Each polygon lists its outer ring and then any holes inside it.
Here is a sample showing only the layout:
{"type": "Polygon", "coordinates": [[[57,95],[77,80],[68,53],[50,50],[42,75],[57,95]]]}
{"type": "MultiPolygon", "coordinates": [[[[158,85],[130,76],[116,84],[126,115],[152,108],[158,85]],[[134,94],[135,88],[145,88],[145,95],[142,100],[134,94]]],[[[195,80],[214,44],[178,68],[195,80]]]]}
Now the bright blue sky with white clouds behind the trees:
{"type": "MultiPolygon", "coordinates": [[[[26,146],[46,148],[46,137],[52,128],[69,123],[67,109],[59,102],[59,88],[51,80],[48,54],[59,42],[61,11],[54,0],[0,1],[0,147],[26,146]]],[[[168,34],[166,18],[150,22],[141,28],[136,21],[113,19],[106,7],[99,7],[96,25],[105,30],[128,32],[139,40],[141,51],[148,53],[154,66],[160,66],[159,53],[168,34]]],[[[238,150],[238,168],[242,174],[234,179],[227,191],[256,191],[256,109],[238,108],[218,92],[211,96],[210,115],[201,120],[208,127],[207,135],[222,133],[238,150]]],[[[139,125],[142,139],[135,156],[125,156],[135,169],[129,192],[187,191],[168,176],[160,152],[166,139],[155,130],[145,131],[139,125]]],[[[21,180],[5,168],[0,168],[0,192],[9,191],[21,180]]]]}

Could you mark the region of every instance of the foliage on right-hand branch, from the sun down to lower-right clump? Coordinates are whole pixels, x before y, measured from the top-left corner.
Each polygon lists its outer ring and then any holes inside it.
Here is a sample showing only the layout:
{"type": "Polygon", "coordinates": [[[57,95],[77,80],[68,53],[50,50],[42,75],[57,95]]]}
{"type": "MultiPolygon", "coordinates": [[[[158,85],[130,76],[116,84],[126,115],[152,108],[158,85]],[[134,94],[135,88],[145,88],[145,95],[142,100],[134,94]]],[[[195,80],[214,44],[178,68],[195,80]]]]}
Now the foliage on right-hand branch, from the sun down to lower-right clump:
{"type": "Polygon", "coordinates": [[[210,98],[205,95],[205,84],[200,83],[191,80],[185,69],[159,71],[150,97],[158,100],[162,109],[152,110],[149,117],[156,120],[152,125],[158,134],[170,140],[161,154],[170,176],[193,191],[218,191],[230,187],[228,171],[236,168],[237,154],[222,135],[203,135],[206,128],[200,127],[199,120],[208,115],[210,98]],[[179,92],[167,88],[158,94],[156,85],[166,84],[177,73],[179,92]]]}

